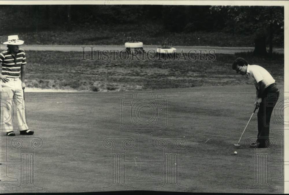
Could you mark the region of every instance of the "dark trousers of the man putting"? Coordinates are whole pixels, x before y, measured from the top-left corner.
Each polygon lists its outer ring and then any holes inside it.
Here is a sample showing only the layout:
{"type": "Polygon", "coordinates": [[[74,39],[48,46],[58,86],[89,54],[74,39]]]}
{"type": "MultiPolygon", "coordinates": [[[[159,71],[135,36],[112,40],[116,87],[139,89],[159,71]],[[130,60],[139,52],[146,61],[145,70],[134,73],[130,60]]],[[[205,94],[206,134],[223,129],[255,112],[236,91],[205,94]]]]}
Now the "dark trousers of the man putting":
{"type": "Polygon", "coordinates": [[[269,126],[270,126],[271,114],[279,98],[279,94],[280,92],[275,83],[269,85],[264,90],[264,93],[262,96],[262,102],[260,103],[259,111],[257,114],[258,116],[257,142],[260,146],[266,146],[266,142],[269,141],[269,126]]]}

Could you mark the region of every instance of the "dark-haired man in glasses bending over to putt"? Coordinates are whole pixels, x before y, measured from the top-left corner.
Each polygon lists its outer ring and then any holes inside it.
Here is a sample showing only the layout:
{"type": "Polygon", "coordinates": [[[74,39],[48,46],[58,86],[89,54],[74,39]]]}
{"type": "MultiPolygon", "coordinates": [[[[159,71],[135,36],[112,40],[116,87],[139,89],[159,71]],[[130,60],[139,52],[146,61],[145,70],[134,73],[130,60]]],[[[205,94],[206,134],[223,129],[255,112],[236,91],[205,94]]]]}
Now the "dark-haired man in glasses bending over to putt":
{"type": "Polygon", "coordinates": [[[248,79],[255,85],[256,99],[255,107],[259,108],[258,118],[258,134],[257,145],[258,148],[267,147],[269,144],[269,126],[273,108],[279,98],[279,90],[275,84],[275,80],[271,74],[259,65],[249,65],[243,58],[237,58],[232,64],[233,70],[236,73],[247,75],[248,79]],[[274,106],[266,105],[264,99],[274,102],[274,106]]]}

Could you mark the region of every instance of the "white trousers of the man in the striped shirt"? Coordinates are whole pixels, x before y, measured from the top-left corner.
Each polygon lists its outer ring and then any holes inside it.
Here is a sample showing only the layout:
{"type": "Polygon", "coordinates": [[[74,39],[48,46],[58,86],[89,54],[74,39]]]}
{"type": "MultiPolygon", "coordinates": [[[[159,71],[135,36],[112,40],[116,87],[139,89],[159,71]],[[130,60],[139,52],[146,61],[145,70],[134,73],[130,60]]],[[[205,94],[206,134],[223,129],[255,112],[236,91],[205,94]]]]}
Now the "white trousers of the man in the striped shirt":
{"type": "Polygon", "coordinates": [[[4,132],[28,129],[21,84],[19,78],[10,78],[10,81],[6,83],[0,80],[0,104],[3,108],[3,119],[0,120],[0,128],[4,132]]]}

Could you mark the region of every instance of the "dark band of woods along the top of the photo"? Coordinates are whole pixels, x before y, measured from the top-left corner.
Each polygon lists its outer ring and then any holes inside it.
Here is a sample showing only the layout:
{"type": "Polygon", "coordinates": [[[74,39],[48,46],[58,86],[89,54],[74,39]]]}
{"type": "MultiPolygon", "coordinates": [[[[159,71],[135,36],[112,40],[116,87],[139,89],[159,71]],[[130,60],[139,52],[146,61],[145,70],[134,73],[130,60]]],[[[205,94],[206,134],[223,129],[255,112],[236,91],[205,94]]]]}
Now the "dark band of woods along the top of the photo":
{"type": "Polygon", "coordinates": [[[273,46],[284,46],[282,6],[2,5],[0,8],[1,34],[13,29],[98,30],[98,25],[105,24],[142,26],[155,22],[175,33],[248,34],[254,40],[255,55],[271,55],[273,46]]]}

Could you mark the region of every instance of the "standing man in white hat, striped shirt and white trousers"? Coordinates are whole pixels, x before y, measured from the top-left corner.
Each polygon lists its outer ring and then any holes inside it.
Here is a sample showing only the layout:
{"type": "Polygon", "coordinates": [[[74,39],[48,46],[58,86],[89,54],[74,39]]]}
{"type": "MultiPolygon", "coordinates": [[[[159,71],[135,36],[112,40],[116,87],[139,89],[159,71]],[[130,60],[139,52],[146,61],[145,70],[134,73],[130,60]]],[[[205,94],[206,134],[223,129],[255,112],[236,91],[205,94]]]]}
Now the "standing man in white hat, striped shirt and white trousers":
{"type": "MultiPolygon", "coordinates": [[[[3,107],[3,129],[7,136],[15,136],[14,127],[17,126],[21,135],[32,135],[25,118],[23,90],[25,88],[25,51],[19,49],[24,41],[18,35],[8,36],[8,49],[0,53],[2,72],[0,73],[1,105],[3,107]],[[19,77],[21,76],[21,80],[19,77]]],[[[2,123],[2,121],[1,121],[2,123]]],[[[1,124],[2,125],[2,124],[1,124]]]]}

